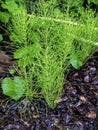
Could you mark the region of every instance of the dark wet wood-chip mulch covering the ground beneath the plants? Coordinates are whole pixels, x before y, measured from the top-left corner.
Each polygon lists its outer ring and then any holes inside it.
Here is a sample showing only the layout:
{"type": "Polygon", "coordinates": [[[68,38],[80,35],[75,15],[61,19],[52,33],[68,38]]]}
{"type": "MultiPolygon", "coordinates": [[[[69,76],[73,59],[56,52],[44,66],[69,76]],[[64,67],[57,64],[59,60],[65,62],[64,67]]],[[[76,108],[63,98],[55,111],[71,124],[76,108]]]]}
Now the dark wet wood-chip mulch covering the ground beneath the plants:
{"type": "MultiPolygon", "coordinates": [[[[0,57],[0,80],[10,76],[10,58],[0,57]]],[[[30,104],[7,99],[0,89],[0,130],[98,130],[98,52],[81,69],[72,70],[58,106],[44,100],[30,104]]]]}

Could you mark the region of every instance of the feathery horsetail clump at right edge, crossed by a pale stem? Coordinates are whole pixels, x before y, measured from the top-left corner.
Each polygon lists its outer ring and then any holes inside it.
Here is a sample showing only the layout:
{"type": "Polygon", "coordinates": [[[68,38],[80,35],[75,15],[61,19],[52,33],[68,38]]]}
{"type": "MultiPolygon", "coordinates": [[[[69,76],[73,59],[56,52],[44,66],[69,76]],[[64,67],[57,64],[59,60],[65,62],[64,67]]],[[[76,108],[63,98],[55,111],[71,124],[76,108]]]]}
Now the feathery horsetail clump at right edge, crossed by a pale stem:
{"type": "MultiPolygon", "coordinates": [[[[98,18],[94,16],[94,12],[90,9],[82,13],[80,22],[83,25],[77,25],[78,34],[74,37],[74,51],[72,53],[72,60],[77,61],[77,66],[73,65],[75,68],[81,67],[87,59],[97,49],[95,43],[98,41],[97,32],[98,32],[98,18]]],[[[72,63],[72,61],[71,61],[72,63]]]]}

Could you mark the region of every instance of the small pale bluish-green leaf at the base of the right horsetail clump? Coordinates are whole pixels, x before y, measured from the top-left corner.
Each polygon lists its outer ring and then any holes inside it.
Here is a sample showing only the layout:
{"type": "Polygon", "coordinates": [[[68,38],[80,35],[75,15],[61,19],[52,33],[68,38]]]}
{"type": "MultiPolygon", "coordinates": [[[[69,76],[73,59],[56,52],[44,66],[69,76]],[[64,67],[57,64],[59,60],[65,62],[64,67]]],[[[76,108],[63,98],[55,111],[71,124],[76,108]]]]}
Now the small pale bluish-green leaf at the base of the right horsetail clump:
{"type": "Polygon", "coordinates": [[[83,64],[82,61],[77,57],[77,55],[71,56],[70,63],[75,69],[78,69],[83,64]]]}

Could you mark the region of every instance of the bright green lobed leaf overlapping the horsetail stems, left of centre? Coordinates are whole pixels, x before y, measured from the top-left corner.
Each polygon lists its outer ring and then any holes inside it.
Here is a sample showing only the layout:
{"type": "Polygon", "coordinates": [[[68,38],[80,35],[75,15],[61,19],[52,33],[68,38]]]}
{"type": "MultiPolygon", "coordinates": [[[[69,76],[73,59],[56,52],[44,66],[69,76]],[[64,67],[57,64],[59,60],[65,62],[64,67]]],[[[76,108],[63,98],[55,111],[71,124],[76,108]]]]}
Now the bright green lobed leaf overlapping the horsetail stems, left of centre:
{"type": "Polygon", "coordinates": [[[39,55],[40,50],[40,44],[34,43],[33,45],[18,49],[14,53],[14,58],[19,59],[19,66],[31,65],[34,61],[34,58],[36,58],[39,55]]]}

